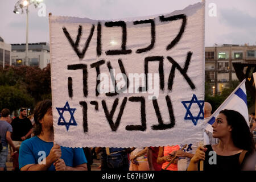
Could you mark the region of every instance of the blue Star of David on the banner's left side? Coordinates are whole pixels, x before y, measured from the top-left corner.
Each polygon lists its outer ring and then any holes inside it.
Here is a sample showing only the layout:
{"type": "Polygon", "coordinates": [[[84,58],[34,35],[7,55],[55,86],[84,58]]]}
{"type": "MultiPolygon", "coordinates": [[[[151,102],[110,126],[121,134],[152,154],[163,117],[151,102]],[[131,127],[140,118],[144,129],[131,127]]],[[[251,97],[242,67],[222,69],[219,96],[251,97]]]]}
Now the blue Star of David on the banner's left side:
{"type": "Polygon", "coordinates": [[[76,120],[74,118],[74,113],[75,113],[76,109],[70,108],[68,101],[66,102],[64,107],[56,107],[56,109],[57,109],[58,113],[60,114],[57,125],[61,125],[61,126],[64,125],[67,128],[67,131],[69,129],[69,126],[71,126],[71,125],[77,126],[76,120]],[[66,120],[63,116],[64,111],[69,111],[69,114],[70,114],[69,122],[66,122],[66,120]]]}

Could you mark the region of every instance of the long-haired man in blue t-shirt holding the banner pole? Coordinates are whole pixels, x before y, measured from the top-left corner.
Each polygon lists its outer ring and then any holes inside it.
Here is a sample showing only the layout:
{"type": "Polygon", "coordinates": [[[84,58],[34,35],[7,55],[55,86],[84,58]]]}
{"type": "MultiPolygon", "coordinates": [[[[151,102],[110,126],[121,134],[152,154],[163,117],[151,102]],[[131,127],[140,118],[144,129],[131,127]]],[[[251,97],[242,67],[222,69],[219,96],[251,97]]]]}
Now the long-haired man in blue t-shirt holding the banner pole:
{"type": "Polygon", "coordinates": [[[82,148],[62,147],[53,143],[50,100],[41,101],[36,105],[34,118],[35,137],[22,142],[19,150],[19,169],[22,171],[85,171],[87,161],[82,148]]]}

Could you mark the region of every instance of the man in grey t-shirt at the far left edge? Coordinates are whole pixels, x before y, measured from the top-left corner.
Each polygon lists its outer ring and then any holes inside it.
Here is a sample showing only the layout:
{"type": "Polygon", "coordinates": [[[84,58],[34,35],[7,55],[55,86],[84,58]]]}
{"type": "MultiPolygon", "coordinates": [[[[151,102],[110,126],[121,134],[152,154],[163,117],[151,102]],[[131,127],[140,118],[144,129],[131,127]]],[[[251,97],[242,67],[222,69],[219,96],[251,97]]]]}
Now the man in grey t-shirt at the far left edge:
{"type": "Polygon", "coordinates": [[[11,140],[11,132],[13,131],[11,125],[7,122],[9,119],[10,110],[3,109],[1,111],[0,118],[0,139],[1,139],[1,148],[0,151],[0,171],[3,171],[6,167],[6,159],[8,156],[8,143],[13,147],[13,151],[16,150],[13,141],[11,140]]]}

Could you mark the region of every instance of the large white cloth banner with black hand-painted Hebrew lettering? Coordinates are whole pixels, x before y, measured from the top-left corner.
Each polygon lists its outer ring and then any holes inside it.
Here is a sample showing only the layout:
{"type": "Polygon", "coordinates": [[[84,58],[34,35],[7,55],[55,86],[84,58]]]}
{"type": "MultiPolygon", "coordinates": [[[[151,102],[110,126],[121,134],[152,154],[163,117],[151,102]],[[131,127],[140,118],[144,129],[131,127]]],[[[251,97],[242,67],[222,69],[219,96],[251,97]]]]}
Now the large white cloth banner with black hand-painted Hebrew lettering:
{"type": "Polygon", "coordinates": [[[67,147],[199,142],[204,6],[126,20],[49,15],[55,142],[67,147]]]}

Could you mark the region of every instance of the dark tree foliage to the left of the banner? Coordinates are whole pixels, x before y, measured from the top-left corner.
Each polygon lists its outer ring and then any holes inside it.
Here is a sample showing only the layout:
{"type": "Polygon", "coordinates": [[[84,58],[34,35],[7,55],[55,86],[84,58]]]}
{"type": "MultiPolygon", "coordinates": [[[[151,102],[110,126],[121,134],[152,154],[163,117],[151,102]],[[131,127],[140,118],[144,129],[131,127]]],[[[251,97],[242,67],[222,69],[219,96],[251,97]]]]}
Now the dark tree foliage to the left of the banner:
{"type": "Polygon", "coordinates": [[[33,108],[37,102],[51,98],[50,66],[0,68],[0,88],[0,109],[33,108]]]}

